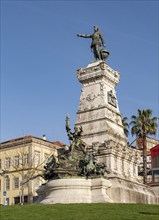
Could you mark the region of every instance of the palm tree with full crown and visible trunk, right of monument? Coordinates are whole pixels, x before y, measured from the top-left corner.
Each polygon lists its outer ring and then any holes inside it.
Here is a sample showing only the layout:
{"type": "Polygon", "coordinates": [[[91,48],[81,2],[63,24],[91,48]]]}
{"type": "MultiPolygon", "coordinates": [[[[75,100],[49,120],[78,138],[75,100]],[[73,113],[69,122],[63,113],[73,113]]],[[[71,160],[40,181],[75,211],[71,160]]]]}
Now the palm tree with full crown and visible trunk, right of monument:
{"type": "Polygon", "coordinates": [[[157,117],[152,117],[152,110],[138,109],[138,115],[131,117],[131,133],[139,138],[142,138],[143,144],[143,183],[147,183],[147,145],[146,136],[155,135],[157,132],[157,117]]]}

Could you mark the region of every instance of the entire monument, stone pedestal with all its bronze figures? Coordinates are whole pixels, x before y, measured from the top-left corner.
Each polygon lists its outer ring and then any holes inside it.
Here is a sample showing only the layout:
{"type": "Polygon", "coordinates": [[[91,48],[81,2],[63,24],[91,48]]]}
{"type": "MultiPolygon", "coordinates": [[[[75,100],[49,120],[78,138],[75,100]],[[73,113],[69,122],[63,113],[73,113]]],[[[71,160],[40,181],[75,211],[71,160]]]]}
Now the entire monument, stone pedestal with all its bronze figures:
{"type": "Polygon", "coordinates": [[[43,173],[48,180],[38,203],[159,203],[151,187],[138,179],[140,154],[127,144],[115,86],[120,74],[105,62],[109,52],[97,26],[91,38],[95,60],[77,70],[82,83],[74,132],[69,117],[70,146],[52,155],[43,173]],[[101,48],[101,44],[104,48],[101,48]]]}

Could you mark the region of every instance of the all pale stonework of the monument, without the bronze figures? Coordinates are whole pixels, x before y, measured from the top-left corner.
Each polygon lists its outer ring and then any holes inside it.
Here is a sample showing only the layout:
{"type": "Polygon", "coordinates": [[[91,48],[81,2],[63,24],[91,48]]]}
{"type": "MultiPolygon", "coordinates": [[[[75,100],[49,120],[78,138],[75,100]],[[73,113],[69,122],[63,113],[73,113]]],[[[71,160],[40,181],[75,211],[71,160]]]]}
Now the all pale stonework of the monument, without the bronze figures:
{"type": "Polygon", "coordinates": [[[82,126],[82,141],[106,172],[97,178],[49,180],[37,191],[38,203],[159,204],[152,188],[139,181],[140,153],[127,144],[115,91],[119,73],[96,61],[77,70],[77,77],[82,90],[75,125],[82,126]]]}

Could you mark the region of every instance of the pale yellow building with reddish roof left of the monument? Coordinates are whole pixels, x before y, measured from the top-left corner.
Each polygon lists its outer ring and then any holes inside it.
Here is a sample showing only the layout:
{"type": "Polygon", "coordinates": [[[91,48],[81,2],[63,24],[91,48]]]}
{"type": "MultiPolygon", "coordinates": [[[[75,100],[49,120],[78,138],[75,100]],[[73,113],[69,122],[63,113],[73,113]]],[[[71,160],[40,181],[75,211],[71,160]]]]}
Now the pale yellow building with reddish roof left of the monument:
{"type": "Polygon", "coordinates": [[[33,203],[48,157],[64,145],[25,136],[0,145],[0,204],[33,203]],[[36,178],[35,178],[36,177],[36,178]]]}

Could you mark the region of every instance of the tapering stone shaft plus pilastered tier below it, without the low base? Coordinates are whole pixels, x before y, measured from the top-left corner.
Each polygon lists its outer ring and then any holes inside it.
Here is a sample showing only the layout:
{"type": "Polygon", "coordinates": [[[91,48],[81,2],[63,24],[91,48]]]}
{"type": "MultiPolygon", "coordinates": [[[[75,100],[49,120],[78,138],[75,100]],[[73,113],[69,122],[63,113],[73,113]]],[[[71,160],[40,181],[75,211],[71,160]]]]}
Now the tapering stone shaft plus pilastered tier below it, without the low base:
{"type": "Polygon", "coordinates": [[[120,75],[104,61],[77,70],[82,83],[76,126],[82,126],[82,140],[109,172],[122,178],[136,178],[140,155],[128,147],[122,126],[115,86],[120,75]]]}

